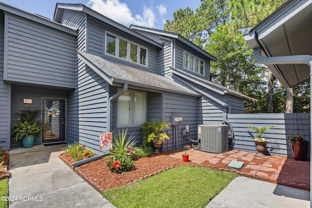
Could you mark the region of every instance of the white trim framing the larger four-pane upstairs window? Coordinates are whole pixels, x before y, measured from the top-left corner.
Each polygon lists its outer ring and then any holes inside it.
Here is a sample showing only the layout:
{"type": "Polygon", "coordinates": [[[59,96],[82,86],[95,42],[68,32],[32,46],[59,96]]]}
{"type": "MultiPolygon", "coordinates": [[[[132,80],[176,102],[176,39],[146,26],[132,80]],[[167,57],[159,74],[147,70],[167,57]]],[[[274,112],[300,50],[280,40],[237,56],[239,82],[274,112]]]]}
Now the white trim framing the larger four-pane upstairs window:
{"type": "Polygon", "coordinates": [[[144,46],[142,46],[142,45],[139,45],[139,44],[137,44],[136,42],[130,41],[130,40],[126,39],[126,38],[123,38],[123,37],[121,37],[121,36],[117,36],[117,35],[115,35],[114,33],[110,33],[110,32],[107,32],[107,31],[105,32],[105,37],[104,37],[104,38],[105,38],[105,41],[104,41],[104,43],[105,43],[105,46],[104,46],[104,53],[105,53],[105,55],[111,56],[111,57],[116,57],[116,58],[121,59],[121,60],[126,60],[126,61],[129,61],[129,62],[131,62],[131,63],[138,64],[138,65],[140,65],[140,66],[148,67],[148,48],[146,48],[146,47],[144,47],[144,46]],[[116,42],[115,42],[115,55],[106,53],[106,44],[107,44],[106,37],[107,37],[107,35],[116,37],[116,42]],[[119,38],[121,38],[122,40],[127,41],[127,58],[121,58],[121,57],[119,57],[119,38]],[[134,62],[134,61],[132,61],[132,60],[130,59],[130,44],[131,44],[131,43],[134,44],[134,45],[137,45],[137,62],[134,62]],[[141,48],[144,49],[144,50],[146,50],[146,64],[145,64],[145,65],[140,63],[140,49],[141,49],[141,48]]]}

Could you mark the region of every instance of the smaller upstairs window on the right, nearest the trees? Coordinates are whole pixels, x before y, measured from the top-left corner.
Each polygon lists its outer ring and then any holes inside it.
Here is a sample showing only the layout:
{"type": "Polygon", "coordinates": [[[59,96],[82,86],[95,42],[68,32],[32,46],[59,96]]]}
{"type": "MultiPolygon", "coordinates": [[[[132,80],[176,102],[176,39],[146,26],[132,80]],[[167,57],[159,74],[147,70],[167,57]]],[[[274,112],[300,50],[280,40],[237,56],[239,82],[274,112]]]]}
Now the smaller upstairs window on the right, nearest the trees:
{"type": "Polygon", "coordinates": [[[183,52],[183,68],[205,75],[205,62],[186,51],[183,52]]]}

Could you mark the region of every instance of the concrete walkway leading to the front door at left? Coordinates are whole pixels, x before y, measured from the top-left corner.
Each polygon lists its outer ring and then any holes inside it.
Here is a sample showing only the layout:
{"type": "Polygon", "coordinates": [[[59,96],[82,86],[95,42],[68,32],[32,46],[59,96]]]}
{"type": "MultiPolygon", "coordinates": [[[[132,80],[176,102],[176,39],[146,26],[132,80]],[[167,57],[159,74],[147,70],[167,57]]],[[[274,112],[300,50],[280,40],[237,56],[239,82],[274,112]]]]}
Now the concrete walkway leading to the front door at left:
{"type": "Polygon", "coordinates": [[[9,208],[114,208],[60,159],[67,145],[9,151],[9,208]]]}

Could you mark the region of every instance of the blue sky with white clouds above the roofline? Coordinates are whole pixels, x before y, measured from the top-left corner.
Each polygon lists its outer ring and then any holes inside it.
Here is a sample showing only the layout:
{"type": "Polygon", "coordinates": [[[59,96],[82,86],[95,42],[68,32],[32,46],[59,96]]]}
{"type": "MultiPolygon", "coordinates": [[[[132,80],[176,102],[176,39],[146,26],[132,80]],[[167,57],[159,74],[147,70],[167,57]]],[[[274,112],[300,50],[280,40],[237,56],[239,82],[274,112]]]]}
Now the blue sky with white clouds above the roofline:
{"type": "Polygon", "coordinates": [[[173,19],[178,9],[190,7],[195,11],[200,0],[1,0],[30,13],[36,13],[49,19],[57,2],[82,3],[97,12],[129,26],[136,24],[145,27],[163,29],[166,19],[173,19]]]}

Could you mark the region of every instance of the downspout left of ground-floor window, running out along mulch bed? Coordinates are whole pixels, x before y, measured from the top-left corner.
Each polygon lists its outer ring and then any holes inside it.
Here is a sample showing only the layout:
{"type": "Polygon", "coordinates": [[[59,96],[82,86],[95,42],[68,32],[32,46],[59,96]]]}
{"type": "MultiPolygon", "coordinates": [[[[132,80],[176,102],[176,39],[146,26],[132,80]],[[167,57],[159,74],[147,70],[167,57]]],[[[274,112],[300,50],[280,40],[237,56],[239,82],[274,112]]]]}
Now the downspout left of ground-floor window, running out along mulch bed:
{"type": "MultiPolygon", "coordinates": [[[[111,96],[109,99],[108,99],[108,103],[107,103],[107,128],[106,128],[106,131],[107,132],[111,132],[110,131],[110,128],[111,128],[111,111],[112,111],[112,101],[114,101],[115,99],[117,99],[117,97],[119,97],[120,95],[126,93],[128,90],[128,84],[127,83],[124,83],[123,84],[123,88],[120,92],[116,93],[115,95],[111,96]]],[[[98,159],[101,159],[102,157],[105,157],[106,155],[108,155],[107,153],[103,153],[103,154],[99,154],[97,156],[94,156],[94,157],[90,157],[90,158],[86,158],[84,160],[80,160],[80,161],[77,161],[75,163],[73,163],[73,168],[75,167],[78,167],[78,166],[81,166],[83,164],[87,164],[87,163],[90,163],[90,162],[93,162],[93,161],[96,161],[98,159]]]]}

